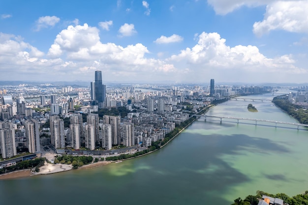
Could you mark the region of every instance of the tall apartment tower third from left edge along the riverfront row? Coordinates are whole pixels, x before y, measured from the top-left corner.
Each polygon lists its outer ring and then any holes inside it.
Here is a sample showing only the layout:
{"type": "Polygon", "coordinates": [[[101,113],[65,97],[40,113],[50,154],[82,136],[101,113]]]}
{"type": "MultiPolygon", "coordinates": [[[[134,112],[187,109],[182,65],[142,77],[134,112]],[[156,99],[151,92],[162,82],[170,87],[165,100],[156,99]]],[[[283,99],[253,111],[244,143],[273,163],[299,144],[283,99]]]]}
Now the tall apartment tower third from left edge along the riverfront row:
{"type": "Polygon", "coordinates": [[[50,116],[51,144],[56,148],[65,147],[64,122],[59,116],[50,116]]]}

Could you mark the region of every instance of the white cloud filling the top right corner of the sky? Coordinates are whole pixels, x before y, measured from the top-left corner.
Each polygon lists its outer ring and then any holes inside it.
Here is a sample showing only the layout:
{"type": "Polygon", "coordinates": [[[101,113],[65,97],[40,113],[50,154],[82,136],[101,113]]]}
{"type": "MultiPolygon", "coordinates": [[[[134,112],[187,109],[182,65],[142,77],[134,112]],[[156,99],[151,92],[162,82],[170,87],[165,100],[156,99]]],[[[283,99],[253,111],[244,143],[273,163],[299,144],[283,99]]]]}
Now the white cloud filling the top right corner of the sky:
{"type": "Polygon", "coordinates": [[[266,7],[264,20],[255,22],[253,32],[262,36],[271,30],[308,33],[308,1],[277,1],[266,7]]]}

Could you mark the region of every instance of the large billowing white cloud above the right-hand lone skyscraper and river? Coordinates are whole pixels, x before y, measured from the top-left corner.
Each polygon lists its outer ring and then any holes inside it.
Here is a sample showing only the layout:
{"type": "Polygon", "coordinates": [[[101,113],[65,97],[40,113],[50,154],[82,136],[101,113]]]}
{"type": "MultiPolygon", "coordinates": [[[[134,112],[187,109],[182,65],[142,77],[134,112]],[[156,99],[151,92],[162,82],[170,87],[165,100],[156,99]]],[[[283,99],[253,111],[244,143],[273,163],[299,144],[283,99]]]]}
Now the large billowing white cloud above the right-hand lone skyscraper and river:
{"type": "Polygon", "coordinates": [[[226,45],[226,40],[218,33],[203,32],[198,37],[198,43],[194,47],[186,48],[180,54],[171,56],[167,62],[178,65],[178,67],[188,67],[199,75],[206,74],[205,70],[209,72],[229,70],[228,72],[233,76],[236,76],[236,72],[240,74],[243,71],[250,75],[277,72],[307,73],[306,70],[294,65],[295,60],[290,55],[271,59],[261,54],[256,46],[237,45],[230,48],[226,45]]]}

